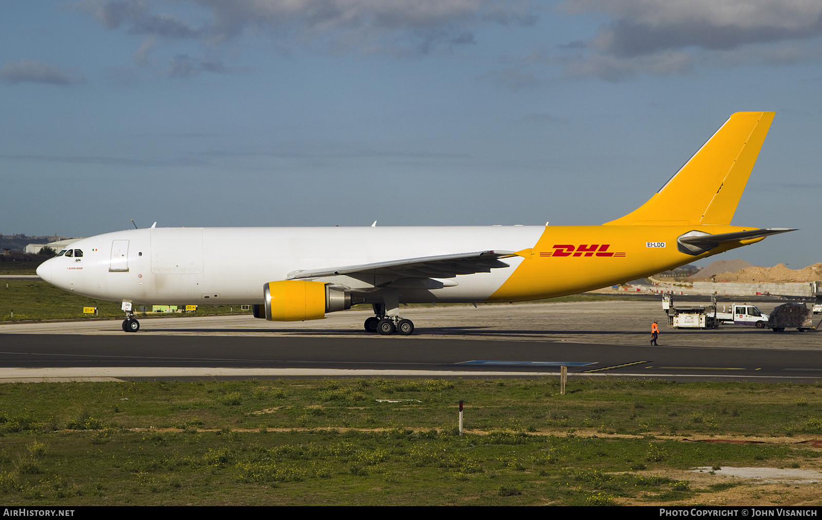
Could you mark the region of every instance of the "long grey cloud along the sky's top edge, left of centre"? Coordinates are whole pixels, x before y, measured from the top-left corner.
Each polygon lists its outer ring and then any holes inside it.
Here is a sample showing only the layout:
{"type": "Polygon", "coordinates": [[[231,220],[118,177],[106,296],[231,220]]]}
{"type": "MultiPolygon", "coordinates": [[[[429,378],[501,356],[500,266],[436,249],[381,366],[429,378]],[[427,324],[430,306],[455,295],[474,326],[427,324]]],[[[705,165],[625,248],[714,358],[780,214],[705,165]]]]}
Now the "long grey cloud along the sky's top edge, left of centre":
{"type": "Polygon", "coordinates": [[[219,44],[265,32],[289,43],[320,44],[333,52],[427,53],[434,46],[473,44],[473,27],[529,26],[537,20],[531,0],[181,0],[173,4],[189,16],[198,16],[199,23],[157,13],[169,4],[150,0],[82,0],[72,5],[109,30],[126,28],[136,35],[219,44]]]}

